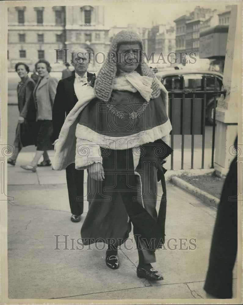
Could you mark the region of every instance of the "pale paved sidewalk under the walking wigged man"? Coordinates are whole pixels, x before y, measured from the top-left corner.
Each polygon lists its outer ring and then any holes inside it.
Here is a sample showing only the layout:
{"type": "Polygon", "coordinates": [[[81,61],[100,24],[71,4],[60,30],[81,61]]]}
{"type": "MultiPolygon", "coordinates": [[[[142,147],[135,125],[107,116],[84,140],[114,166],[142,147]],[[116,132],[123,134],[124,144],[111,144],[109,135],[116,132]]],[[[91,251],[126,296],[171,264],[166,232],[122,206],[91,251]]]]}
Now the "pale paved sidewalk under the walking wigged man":
{"type": "MultiPolygon", "coordinates": [[[[148,282],[136,276],[138,257],[135,249],[122,247],[119,250],[121,265],[118,270],[105,265],[106,249],[102,249],[102,244],[98,244],[102,250],[94,245],[92,250],[87,250],[87,246],[81,249],[77,239],[88,210],[87,201],[82,221],[72,223],[65,170],[54,171],[45,167],[38,168],[37,173],[25,172],[19,165],[26,163],[26,158],[33,153],[25,154],[20,154],[15,167],[8,165],[8,195],[14,197],[8,202],[9,298],[205,298],[203,285],[215,209],[167,183],[165,249],[157,251],[157,262],[153,264],[163,274],[164,280],[148,282]],[[55,249],[55,235],[60,235],[59,241],[64,241],[63,235],[68,235],[67,249],[64,249],[64,243],[59,243],[59,250],[55,249]],[[193,238],[196,239],[196,249],[184,249],[193,247],[189,243],[193,238]],[[187,239],[187,242],[181,239],[187,239]]],[[[158,195],[161,192],[159,187],[158,195]]],[[[135,246],[135,243],[127,246],[135,246]]],[[[235,284],[236,280],[234,293],[235,284]]]]}

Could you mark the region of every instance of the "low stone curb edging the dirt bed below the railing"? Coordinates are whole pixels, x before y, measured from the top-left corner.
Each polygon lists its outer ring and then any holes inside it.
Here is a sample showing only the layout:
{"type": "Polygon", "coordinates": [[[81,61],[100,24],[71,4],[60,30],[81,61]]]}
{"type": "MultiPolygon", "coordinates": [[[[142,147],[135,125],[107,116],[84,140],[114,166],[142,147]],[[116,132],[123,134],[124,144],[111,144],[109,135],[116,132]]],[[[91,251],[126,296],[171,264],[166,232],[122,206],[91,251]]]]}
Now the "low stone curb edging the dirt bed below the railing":
{"type": "Polygon", "coordinates": [[[180,188],[184,189],[185,191],[189,192],[190,194],[201,199],[203,201],[203,203],[205,203],[206,205],[214,206],[215,208],[217,208],[217,206],[219,204],[219,198],[216,198],[216,197],[210,195],[209,193],[200,190],[200,188],[197,188],[197,187],[191,185],[190,183],[182,180],[179,177],[172,177],[171,181],[175,185],[179,186],[180,188]]]}

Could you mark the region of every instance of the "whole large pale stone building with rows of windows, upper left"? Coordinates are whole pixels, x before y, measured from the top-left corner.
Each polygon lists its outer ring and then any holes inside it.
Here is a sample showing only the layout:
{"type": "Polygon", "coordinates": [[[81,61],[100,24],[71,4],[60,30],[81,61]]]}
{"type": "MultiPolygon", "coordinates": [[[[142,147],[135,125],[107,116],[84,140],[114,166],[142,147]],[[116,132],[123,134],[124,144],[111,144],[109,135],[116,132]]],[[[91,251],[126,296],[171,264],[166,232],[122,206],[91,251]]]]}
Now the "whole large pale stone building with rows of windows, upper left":
{"type": "MultiPolygon", "coordinates": [[[[53,70],[63,66],[56,61],[54,49],[85,48],[106,53],[110,42],[109,28],[104,26],[104,6],[53,6],[8,8],[8,68],[17,62],[27,63],[31,70],[38,59],[46,59],[53,70]]],[[[63,52],[59,51],[60,55],[63,52]]],[[[103,60],[101,55],[99,62],[103,60]]],[[[91,70],[97,66],[91,55],[91,70]]]]}

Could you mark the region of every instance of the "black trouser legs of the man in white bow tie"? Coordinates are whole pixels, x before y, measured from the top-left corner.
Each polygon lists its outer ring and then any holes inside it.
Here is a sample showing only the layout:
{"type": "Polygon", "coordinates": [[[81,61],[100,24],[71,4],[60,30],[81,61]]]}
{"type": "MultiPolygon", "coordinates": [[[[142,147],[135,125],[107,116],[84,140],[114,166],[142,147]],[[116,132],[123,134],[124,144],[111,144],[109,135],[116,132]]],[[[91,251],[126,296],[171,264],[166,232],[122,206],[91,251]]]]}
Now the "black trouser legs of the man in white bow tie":
{"type": "Polygon", "coordinates": [[[76,170],[75,163],[66,168],[67,190],[71,213],[81,215],[84,210],[84,171],[76,170]]]}

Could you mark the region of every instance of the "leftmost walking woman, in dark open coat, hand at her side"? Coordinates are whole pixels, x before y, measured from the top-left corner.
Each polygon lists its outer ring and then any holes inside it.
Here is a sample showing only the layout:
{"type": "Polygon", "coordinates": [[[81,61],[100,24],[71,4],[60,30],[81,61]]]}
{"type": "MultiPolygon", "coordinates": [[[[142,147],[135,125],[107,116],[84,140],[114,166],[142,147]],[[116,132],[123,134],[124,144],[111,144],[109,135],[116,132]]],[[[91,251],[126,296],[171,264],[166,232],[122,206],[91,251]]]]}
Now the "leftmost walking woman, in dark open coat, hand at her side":
{"type": "Polygon", "coordinates": [[[17,156],[24,146],[34,145],[34,129],[36,110],[34,106],[33,90],[35,83],[28,77],[29,67],[25,63],[16,63],[15,71],[21,81],[17,87],[19,119],[14,140],[14,152],[8,163],[15,165],[17,156]]]}

